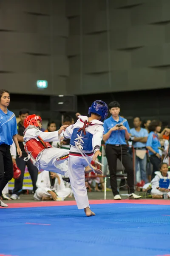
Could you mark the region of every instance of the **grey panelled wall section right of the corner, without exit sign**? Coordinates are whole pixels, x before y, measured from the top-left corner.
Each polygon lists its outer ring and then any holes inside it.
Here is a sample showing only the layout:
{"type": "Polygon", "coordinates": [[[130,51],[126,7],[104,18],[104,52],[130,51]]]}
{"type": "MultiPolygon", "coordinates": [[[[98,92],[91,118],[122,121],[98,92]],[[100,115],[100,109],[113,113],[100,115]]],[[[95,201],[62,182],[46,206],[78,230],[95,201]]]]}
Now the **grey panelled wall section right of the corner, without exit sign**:
{"type": "Polygon", "coordinates": [[[67,0],[68,93],[170,87],[170,0],[67,0]]]}

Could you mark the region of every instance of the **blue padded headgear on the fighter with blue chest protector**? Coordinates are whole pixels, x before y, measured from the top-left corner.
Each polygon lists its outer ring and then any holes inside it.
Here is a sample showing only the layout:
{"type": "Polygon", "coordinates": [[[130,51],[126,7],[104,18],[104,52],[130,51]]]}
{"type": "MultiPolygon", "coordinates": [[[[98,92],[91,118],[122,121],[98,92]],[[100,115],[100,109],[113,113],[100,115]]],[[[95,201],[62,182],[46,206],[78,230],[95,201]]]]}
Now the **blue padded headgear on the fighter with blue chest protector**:
{"type": "Polygon", "coordinates": [[[91,113],[96,113],[99,116],[102,116],[101,121],[103,121],[108,116],[108,105],[102,100],[95,100],[91,107],[88,108],[89,116],[91,116],[91,113]]]}

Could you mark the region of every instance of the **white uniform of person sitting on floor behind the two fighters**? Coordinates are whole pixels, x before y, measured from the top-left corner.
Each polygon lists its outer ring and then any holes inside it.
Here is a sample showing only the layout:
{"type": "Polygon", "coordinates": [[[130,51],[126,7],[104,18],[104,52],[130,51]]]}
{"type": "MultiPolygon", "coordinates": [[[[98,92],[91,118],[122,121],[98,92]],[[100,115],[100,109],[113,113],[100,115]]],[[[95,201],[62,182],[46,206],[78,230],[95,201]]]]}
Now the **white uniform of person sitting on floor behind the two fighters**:
{"type": "Polygon", "coordinates": [[[63,200],[72,195],[72,190],[70,188],[66,188],[64,181],[62,180],[62,176],[58,174],[60,178],[60,184],[58,183],[58,179],[55,178],[54,186],[51,186],[50,182],[50,173],[48,171],[43,171],[38,175],[37,178],[37,189],[34,193],[35,200],[41,200],[43,196],[51,197],[51,194],[48,191],[54,191],[59,198],[63,198],[63,200]]]}

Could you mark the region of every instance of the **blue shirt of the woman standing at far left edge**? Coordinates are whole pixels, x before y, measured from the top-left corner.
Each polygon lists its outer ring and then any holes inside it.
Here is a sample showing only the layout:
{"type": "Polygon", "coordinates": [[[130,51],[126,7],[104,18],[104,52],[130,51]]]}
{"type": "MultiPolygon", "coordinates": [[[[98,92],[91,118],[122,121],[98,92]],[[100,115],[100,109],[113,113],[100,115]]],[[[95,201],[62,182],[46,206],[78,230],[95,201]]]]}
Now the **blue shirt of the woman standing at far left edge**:
{"type": "Polygon", "coordinates": [[[12,137],[17,134],[17,120],[15,114],[7,109],[4,113],[0,109],[0,145],[12,145],[12,137]]]}

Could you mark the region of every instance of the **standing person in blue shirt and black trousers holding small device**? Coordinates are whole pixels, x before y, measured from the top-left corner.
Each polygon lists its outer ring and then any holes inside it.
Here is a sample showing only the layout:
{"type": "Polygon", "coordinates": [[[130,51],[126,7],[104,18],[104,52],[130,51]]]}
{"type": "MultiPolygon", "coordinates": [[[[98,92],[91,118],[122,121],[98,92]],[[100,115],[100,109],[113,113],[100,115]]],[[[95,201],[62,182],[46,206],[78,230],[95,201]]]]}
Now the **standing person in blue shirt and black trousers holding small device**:
{"type": "Polygon", "coordinates": [[[111,117],[104,121],[103,140],[106,144],[106,157],[110,171],[111,189],[115,200],[122,198],[117,191],[117,159],[122,161],[127,172],[127,185],[129,186],[129,198],[138,199],[141,196],[134,194],[134,173],[130,154],[127,152],[125,140],[130,138],[130,128],[127,119],[119,116],[120,105],[118,102],[111,102],[108,105],[111,117]]]}

